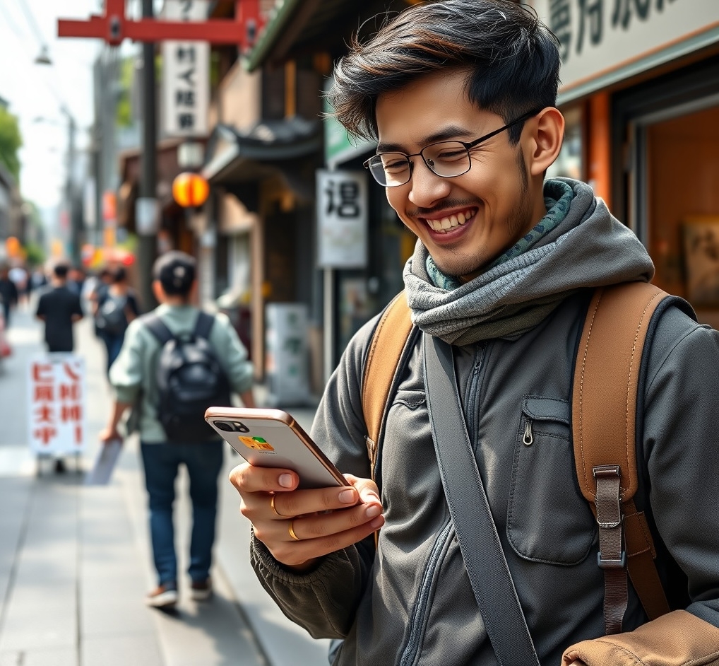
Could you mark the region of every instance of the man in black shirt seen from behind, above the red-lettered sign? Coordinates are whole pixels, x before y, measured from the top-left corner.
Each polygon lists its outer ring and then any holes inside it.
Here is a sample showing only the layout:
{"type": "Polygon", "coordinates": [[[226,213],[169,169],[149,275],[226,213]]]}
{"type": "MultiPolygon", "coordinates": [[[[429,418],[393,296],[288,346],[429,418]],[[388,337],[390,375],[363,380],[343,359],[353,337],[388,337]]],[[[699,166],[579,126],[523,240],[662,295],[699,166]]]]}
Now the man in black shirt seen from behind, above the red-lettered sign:
{"type": "Polygon", "coordinates": [[[52,287],[37,303],[38,319],[45,322],[47,351],[73,351],[73,324],[81,320],[83,310],[78,294],[67,287],[68,266],[57,264],[52,269],[52,287]]]}

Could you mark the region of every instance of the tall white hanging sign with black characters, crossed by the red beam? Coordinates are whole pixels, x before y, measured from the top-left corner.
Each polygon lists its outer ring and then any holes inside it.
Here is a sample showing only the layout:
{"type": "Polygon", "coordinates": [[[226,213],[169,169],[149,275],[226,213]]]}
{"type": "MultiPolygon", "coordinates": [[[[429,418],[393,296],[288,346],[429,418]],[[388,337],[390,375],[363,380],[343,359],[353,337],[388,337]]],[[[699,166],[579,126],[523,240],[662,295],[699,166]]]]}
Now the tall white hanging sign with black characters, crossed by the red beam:
{"type": "MultiPolygon", "coordinates": [[[[166,0],[162,18],[203,21],[208,0],[166,0]]],[[[162,42],[162,127],[170,136],[207,134],[210,45],[208,42],[162,42]]]]}

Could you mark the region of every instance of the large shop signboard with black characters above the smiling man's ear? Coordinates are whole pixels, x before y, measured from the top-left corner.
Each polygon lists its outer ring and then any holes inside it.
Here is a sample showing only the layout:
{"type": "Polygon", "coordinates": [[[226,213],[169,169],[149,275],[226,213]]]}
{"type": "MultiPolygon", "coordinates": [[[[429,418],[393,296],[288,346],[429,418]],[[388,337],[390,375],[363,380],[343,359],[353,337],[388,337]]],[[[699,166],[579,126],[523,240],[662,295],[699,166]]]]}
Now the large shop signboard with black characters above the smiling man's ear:
{"type": "Polygon", "coordinates": [[[719,39],[718,0],[525,2],[559,39],[565,96],[574,89],[585,94],[719,39]]]}

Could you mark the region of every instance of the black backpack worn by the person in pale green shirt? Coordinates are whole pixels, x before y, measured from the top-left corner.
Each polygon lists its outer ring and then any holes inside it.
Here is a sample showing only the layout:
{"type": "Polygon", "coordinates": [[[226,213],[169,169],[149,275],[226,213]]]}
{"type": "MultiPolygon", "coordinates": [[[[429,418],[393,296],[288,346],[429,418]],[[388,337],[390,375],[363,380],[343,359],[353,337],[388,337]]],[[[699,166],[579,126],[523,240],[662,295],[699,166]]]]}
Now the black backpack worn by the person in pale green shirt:
{"type": "Polygon", "coordinates": [[[142,317],[142,323],[160,342],[155,367],[157,420],[168,441],[215,439],[205,422],[205,410],[232,404],[229,381],[209,343],[215,318],[200,311],[193,332],[178,336],[154,312],[142,317]]]}

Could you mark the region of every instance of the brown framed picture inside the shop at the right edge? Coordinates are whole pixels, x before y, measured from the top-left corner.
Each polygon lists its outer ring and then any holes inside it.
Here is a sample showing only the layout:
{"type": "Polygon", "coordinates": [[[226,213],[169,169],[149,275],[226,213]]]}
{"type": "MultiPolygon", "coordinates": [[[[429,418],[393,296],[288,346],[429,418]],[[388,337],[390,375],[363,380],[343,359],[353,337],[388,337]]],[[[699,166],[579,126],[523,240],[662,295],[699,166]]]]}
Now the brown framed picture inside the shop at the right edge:
{"type": "Polygon", "coordinates": [[[687,299],[719,307],[719,215],[687,217],[682,228],[687,299]]]}

